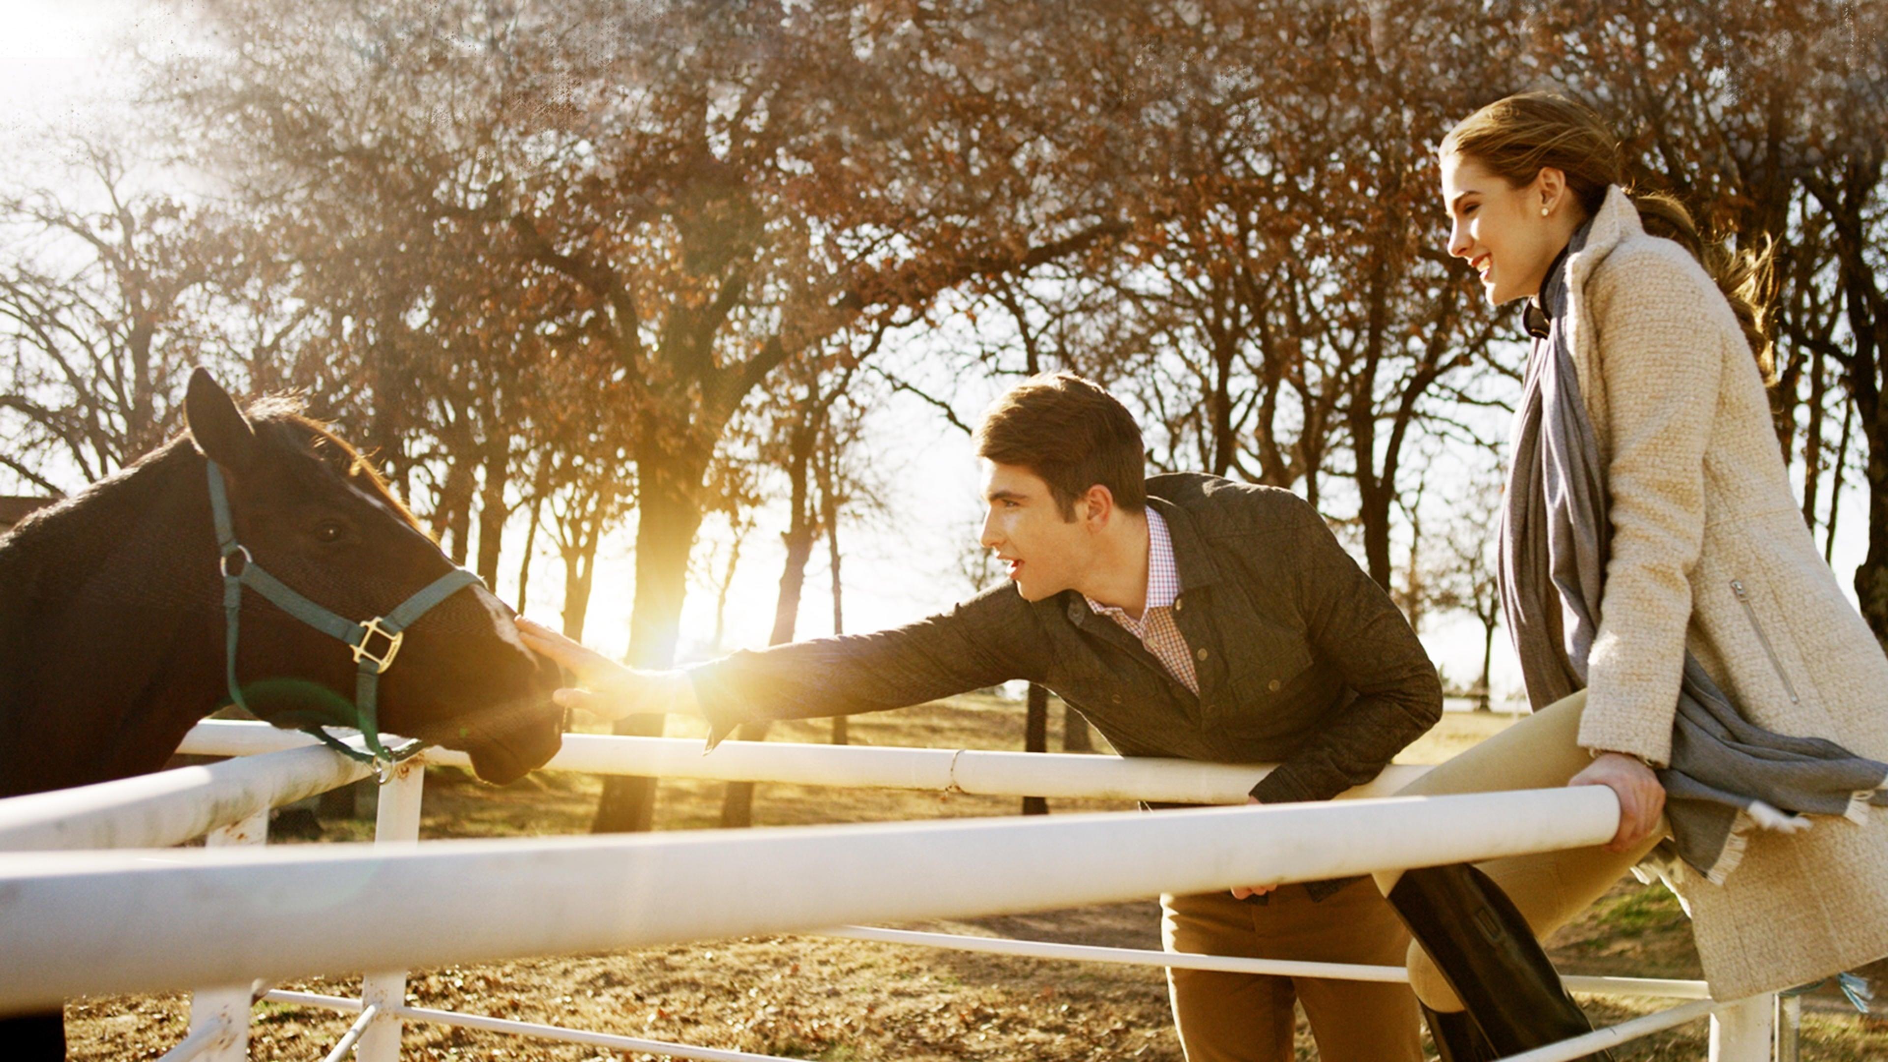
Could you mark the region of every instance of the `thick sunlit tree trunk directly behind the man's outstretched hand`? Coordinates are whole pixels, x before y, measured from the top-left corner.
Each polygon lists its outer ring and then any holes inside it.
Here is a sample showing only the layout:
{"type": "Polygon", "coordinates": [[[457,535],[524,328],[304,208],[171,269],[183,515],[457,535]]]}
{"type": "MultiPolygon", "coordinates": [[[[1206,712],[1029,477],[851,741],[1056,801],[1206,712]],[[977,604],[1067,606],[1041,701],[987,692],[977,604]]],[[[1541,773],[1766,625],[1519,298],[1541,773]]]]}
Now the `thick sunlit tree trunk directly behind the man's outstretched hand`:
{"type": "MultiPolygon", "coordinates": [[[[657,446],[642,454],[659,454],[657,446]]],[[[700,489],[706,459],[649,457],[642,463],[642,497],[636,518],[636,599],[629,618],[631,667],[666,669],[676,661],[682,599],[687,593],[689,550],[700,529],[700,489]]],[[[629,716],[612,733],[661,737],[666,716],[629,716]]],[[[593,833],[644,831],[655,822],[655,779],[610,777],[597,801],[593,833]]]]}

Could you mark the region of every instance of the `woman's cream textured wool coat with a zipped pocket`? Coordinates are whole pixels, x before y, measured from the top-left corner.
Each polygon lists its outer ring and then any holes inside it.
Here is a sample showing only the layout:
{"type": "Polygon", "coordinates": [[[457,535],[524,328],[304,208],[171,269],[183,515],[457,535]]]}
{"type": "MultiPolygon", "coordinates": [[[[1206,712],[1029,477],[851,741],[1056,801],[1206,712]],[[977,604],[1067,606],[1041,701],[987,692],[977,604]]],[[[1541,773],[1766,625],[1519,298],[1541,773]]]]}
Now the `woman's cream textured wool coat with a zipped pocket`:
{"type": "MultiPolygon", "coordinates": [[[[1697,261],[1618,187],[1567,261],[1567,327],[1612,497],[1580,745],[1671,754],[1684,650],[1773,731],[1888,762],[1888,656],[1790,488],[1756,359],[1697,261]]],[[[1724,886],[1686,875],[1720,1000],[1888,956],[1888,809],[1754,830],[1724,886]]]]}

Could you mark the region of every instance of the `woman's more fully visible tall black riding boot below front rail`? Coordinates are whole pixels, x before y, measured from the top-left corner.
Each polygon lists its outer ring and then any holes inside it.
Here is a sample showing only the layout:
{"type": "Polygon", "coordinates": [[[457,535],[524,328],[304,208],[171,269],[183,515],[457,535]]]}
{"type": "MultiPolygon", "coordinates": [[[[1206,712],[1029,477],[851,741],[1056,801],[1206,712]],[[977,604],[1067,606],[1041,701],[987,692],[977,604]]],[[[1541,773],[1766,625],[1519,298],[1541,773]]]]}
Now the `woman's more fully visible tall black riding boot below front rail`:
{"type": "MultiPolygon", "coordinates": [[[[1497,1056],[1593,1030],[1509,894],[1456,864],[1403,871],[1390,890],[1403,916],[1497,1056]]],[[[1433,1026],[1431,1026],[1433,1028],[1433,1026]]],[[[1588,1058],[1610,1062],[1599,1053],[1588,1058]]]]}

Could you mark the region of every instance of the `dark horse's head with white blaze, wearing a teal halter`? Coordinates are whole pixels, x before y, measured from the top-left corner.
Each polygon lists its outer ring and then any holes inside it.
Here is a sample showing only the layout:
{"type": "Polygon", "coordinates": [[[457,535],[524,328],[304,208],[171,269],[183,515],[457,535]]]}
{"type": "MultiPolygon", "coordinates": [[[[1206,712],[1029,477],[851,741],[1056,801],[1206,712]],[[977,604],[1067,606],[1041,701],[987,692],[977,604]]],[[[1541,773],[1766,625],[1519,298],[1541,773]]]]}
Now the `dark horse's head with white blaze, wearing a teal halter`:
{"type": "MultiPolygon", "coordinates": [[[[453,569],[351,446],[287,404],[244,416],[198,368],[185,416],[196,448],[223,469],[236,540],[317,605],[366,622],[453,569]]],[[[379,728],[461,748],[489,782],[549,760],[563,735],[557,669],[525,648],[512,616],[474,584],[413,622],[379,678],[379,728]]],[[[238,644],[238,682],[259,716],[353,718],[346,644],[255,593],[244,597],[238,644]]]]}

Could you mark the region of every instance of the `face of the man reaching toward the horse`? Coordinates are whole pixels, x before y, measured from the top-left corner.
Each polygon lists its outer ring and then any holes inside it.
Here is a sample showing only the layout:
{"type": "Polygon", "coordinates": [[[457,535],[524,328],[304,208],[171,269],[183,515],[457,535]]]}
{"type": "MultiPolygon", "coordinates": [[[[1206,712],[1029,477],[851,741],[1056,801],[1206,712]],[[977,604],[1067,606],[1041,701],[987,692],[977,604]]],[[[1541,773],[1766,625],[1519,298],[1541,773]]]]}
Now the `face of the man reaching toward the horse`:
{"type": "Polygon", "coordinates": [[[1018,593],[1042,601],[1074,588],[1095,550],[1084,506],[1076,501],[1074,520],[1063,520],[1050,486],[1029,469],[984,461],[982,542],[1008,563],[1018,593]]]}

